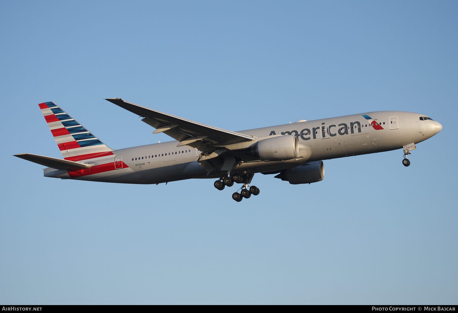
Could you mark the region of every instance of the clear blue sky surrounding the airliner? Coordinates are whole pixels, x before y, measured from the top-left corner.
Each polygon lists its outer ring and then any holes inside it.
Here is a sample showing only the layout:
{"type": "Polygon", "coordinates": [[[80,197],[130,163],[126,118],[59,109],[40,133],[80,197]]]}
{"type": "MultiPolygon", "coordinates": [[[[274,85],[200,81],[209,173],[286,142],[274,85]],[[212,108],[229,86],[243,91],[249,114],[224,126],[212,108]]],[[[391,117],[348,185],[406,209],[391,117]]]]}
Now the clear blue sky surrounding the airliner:
{"type": "Polygon", "coordinates": [[[456,1],[0,4],[0,302],[456,304],[456,1]],[[402,151],[326,160],[325,179],[58,180],[38,103],[113,149],[167,141],[104,98],[230,130],[378,110],[442,123],[402,151]]]}

